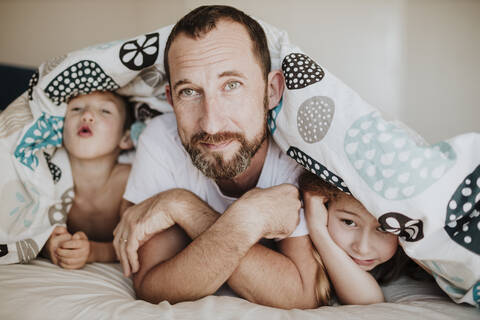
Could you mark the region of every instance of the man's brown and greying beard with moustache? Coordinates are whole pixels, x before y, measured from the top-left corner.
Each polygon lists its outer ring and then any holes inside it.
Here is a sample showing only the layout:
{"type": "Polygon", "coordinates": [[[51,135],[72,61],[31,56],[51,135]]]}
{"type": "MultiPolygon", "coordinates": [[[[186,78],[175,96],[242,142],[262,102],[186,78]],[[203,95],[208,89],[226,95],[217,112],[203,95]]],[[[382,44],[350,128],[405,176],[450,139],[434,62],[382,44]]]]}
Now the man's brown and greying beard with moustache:
{"type": "Polygon", "coordinates": [[[258,149],[262,146],[262,143],[267,138],[268,98],[266,94],[264,95],[263,100],[263,126],[260,133],[256,135],[252,141],[247,141],[243,134],[236,132],[220,132],[211,135],[204,131],[193,135],[188,143],[182,141],[182,144],[190,154],[190,158],[195,167],[207,177],[216,180],[231,179],[244,172],[250,165],[250,162],[258,149]],[[240,149],[232,156],[232,159],[228,161],[223,159],[223,155],[219,152],[204,154],[197,147],[198,143],[221,144],[223,142],[234,140],[240,143],[240,149]]]}

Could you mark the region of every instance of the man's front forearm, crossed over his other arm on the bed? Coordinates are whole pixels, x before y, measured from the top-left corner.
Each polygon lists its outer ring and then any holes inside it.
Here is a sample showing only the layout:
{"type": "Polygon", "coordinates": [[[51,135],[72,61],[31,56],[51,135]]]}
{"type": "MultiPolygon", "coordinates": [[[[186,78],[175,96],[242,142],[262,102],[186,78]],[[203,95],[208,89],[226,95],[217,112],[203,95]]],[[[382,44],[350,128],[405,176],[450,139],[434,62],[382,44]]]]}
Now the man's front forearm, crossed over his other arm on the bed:
{"type": "Polygon", "coordinates": [[[249,233],[220,217],[184,250],[148,271],[137,294],[153,303],[191,301],[213,294],[253,245],[254,238],[246,240],[249,233]]]}

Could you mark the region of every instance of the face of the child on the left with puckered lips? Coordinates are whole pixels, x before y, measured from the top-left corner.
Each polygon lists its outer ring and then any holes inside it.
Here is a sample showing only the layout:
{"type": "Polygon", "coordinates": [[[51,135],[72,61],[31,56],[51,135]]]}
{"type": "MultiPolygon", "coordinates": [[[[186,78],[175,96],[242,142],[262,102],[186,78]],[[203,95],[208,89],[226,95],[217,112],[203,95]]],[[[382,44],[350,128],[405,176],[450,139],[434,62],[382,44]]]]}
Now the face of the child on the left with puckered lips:
{"type": "Polygon", "coordinates": [[[111,92],[94,92],[68,103],[63,144],[78,159],[116,152],[124,135],[125,105],[111,92]]]}

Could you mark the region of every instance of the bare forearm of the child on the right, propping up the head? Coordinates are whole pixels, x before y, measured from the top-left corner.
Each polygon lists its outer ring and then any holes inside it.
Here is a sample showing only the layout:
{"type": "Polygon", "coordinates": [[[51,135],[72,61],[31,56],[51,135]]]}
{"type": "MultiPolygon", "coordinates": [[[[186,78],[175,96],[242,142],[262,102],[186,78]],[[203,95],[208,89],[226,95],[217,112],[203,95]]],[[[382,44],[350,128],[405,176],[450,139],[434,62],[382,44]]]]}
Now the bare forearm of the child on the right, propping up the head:
{"type": "Polygon", "coordinates": [[[332,240],[328,231],[310,232],[310,237],[325,264],[335,293],[342,304],[384,302],[382,289],[375,278],[357,264],[332,240]]]}

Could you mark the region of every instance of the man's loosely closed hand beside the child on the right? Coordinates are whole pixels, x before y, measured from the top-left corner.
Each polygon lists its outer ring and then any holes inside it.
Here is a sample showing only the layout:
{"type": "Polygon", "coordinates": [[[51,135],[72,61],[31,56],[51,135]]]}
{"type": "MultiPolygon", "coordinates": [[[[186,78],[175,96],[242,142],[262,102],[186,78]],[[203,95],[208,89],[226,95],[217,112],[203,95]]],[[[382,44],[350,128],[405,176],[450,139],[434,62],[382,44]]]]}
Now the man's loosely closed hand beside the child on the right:
{"type": "Polygon", "coordinates": [[[248,191],[228,211],[241,210],[242,215],[251,217],[252,225],[262,227],[262,237],[284,239],[295,230],[300,207],[298,189],[291,184],[281,184],[248,191]]]}

